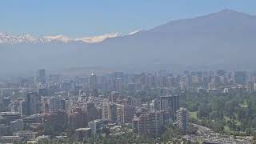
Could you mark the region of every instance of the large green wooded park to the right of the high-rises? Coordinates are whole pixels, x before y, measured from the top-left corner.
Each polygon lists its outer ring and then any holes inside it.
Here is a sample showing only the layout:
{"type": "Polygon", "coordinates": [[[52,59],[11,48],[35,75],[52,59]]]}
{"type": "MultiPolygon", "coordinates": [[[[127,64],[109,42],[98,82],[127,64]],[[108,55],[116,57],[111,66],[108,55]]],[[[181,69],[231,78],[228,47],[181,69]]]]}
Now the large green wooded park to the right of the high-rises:
{"type": "Polygon", "coordinates": [[[186,102],[181,103],[190,111],[197,111],[198,122],[218,132],[254,134],[256,130],[256,94],[244,90],[229,93],[184,94],[186,102]]]}

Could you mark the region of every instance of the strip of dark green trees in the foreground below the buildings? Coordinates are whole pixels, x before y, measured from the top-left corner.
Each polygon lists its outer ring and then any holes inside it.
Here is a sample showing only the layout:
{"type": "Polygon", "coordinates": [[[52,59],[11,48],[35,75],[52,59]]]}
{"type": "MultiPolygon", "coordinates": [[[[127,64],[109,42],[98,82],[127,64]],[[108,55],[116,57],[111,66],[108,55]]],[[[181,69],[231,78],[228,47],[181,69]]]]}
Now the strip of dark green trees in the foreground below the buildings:
{"type": "MultiPolygon", "coordinates": [[[[109,135],[106,133],[99,134],[97,137],[92,137],[83,142],[75,142],[73,138],[65,139],[42,139],[38,141],[38,144],[47,144],[47,143],[101,143],[101,144],[119,144],[119,143],[167,143],[174,142],[179,143],[182,141],[182,135],[174,126],[166,126],[166,131],[160,138],[151,138],[148,136],[139,136],[134,134],[130,129],[122,129],[124,133],[121,135],[109,135]]],[[[29,142],[14,142],[15,144],[25,144],[29,142]]]]}

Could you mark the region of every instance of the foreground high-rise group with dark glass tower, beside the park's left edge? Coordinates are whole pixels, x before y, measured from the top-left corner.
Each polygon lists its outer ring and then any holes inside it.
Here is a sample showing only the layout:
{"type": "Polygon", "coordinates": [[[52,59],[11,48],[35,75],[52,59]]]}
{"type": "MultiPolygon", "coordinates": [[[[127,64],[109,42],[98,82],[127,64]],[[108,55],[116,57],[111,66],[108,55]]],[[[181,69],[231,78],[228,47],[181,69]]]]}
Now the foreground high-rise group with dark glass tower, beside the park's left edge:
{"type": "MultiPolygon", "coordinates": [[[[150,102],[149,108],[140,111],[133,119],[133,130],[137,134],[157,137],[161,135],[165,127],[177,123],[181,130],[187,130],[187,121],[180,121],[184,115],[179,114],[179,96],[165,95],[150,102]],[[182,122],[182,123],[181,123],[182,122]]],[[[188,114],[188,112],[187,112],[188,114]]]]}

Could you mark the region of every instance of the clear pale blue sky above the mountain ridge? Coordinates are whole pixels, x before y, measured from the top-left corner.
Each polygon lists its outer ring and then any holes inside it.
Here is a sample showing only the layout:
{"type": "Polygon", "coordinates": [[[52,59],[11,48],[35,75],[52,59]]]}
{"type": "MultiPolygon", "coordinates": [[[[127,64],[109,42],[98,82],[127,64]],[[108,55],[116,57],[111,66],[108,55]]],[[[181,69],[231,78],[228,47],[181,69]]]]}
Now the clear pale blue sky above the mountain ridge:
{"type": "Polygon", "coordinates": [[[71,38],[146,30],[222,9],[256,14],[255,0],[1,0],[0,32],[71,38]]]}

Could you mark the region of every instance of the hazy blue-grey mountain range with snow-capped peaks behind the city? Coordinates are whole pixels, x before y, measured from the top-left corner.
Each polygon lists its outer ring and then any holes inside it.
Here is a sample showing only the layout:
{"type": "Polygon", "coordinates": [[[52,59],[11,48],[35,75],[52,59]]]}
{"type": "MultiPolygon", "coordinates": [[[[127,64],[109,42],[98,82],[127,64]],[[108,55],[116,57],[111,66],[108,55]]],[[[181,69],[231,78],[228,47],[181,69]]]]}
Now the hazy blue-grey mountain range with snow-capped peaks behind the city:
{"type": "Polygon", "coordinates": [[[113,70],[255,70],[256,16],[221,10],[150,30],[91,38],[0,34],[2,74],[103,66],[113,70]]]}

